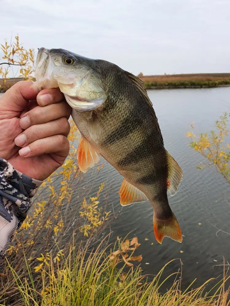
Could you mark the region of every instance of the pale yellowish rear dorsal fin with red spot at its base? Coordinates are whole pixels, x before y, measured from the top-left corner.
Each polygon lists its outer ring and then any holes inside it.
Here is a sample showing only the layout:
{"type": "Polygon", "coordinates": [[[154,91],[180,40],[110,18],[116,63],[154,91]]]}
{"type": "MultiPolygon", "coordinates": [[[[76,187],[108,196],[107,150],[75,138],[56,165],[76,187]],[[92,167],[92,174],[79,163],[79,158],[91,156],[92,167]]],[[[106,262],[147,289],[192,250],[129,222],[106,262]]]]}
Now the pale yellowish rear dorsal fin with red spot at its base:
{"type": "Polygon", "coordinates": [[[176,194],[178,187],[181,183],[183,172],[181,167],[175,161],[175,159],[166,151],[168,161],[168,180],[167,189],[171,196],[176,194]]]}

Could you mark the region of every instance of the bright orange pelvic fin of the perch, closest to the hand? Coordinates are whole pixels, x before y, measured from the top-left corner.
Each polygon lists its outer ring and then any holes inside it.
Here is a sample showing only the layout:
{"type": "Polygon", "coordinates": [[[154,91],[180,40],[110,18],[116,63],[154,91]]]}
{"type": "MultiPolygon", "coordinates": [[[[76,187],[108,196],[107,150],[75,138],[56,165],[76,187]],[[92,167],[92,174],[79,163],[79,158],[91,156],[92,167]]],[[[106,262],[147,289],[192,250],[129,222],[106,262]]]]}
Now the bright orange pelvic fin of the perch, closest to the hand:
{"type": "Polygon", "coordinates": [[[78,166],[82,172],[86,172],[89,168],[92,168],[99,162],[100,154],[89,140],[82,136],[78,146],[78,166]]]}

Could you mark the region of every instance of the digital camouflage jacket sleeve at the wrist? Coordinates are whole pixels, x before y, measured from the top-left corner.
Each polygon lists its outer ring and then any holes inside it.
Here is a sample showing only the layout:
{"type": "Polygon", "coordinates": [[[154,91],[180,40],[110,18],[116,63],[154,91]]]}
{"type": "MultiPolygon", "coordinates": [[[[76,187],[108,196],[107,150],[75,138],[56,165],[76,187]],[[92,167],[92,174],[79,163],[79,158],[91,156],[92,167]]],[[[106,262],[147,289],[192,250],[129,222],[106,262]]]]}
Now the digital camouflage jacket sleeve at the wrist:
{"type": "Polygon", "coordinates": [[[0,158],[0,267],[15,231],[27,216],[30,199],[41,184],[0,158]]]}

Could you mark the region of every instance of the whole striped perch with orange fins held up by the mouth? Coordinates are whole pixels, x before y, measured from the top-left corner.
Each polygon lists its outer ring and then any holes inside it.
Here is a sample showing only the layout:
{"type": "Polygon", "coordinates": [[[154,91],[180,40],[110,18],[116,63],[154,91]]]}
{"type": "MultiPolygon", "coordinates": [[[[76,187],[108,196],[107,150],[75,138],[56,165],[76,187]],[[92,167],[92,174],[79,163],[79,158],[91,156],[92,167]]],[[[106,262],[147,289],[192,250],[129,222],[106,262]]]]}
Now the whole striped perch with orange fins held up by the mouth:
{"type": "Polygon", "coordinates": [[[149,200],[156,240],[162,243],[167,236],[182,242],[167,198],[167,191],[177,192],[182,169],[164,147],[143,82],[115,64],[63,49],[40,48],[35,76],[40,89],[59,87],[72,107],[81,133],[80,170],[86,172],[103,156],[124,177],[121,205],[149,200]]]}

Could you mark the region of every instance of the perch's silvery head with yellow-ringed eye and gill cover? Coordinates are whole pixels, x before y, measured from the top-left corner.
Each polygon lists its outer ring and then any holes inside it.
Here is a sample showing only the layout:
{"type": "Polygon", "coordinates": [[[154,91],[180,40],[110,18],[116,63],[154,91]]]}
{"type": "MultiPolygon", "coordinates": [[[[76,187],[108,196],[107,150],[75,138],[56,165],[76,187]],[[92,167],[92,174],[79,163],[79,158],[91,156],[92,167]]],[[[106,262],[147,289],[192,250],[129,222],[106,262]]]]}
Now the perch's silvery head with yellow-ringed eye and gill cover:
{"type": "Polygon", "coordinates": [[[98,108],[107,98],[96,61],[64,49],[40,48],[35,77],[40,90],[59,87],[80,112],[98,108]]]}

